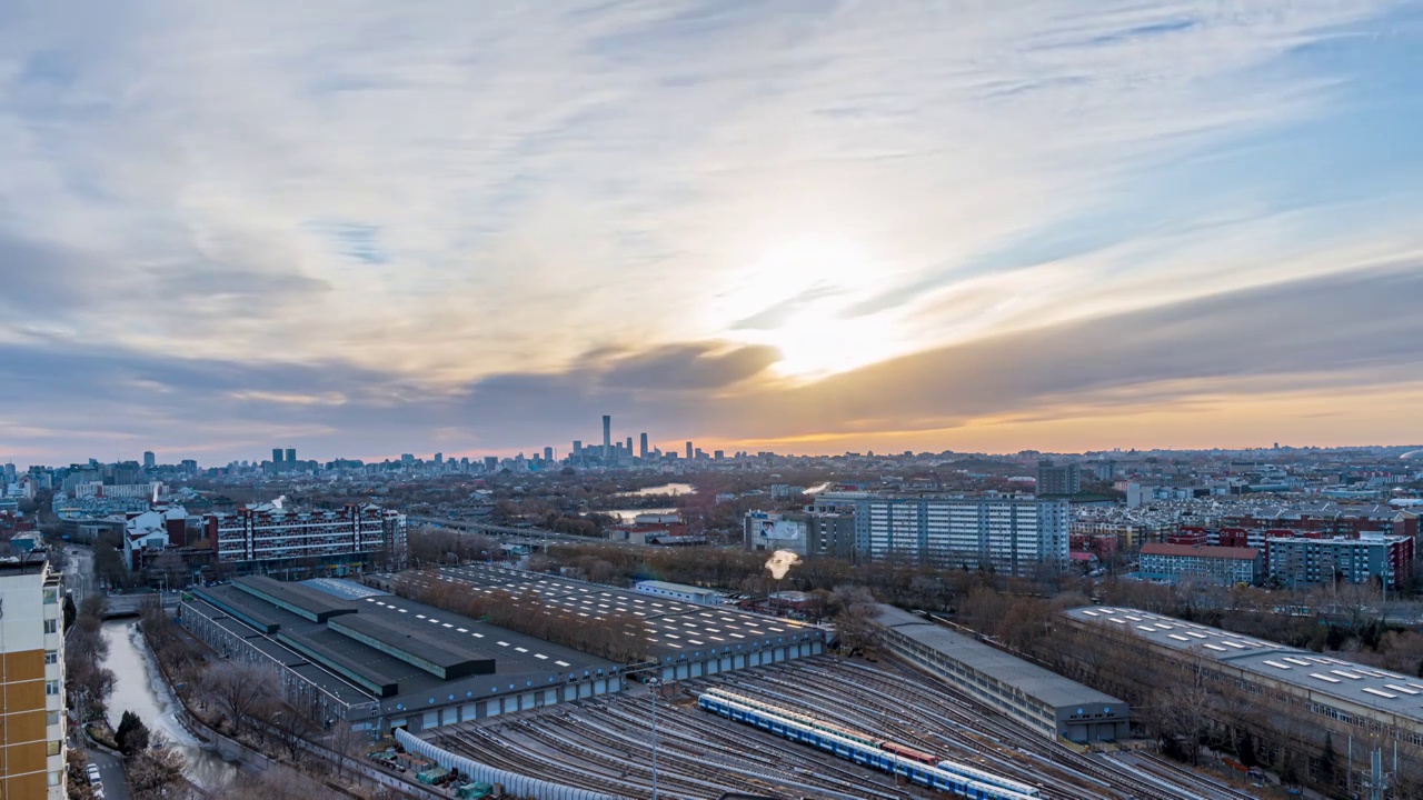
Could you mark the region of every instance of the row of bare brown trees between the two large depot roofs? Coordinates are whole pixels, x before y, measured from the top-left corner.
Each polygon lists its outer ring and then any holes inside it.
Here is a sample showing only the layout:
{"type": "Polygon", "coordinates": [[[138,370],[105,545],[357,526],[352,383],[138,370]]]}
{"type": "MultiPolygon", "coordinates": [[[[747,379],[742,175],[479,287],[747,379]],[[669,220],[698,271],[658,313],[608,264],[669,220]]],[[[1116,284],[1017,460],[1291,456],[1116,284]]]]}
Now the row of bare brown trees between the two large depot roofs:
{"type": "Polygon", "coordinates": [[[440,581],[434,574],[406,574],[391,586],[397,595],[420,601],[453,614],[482,619],[527,636],[605,658],[618,663],[646,660],[647,625],[629,614],[579,616],[561,606],[542,602],[535,592],[470,592],[454,581],[440,581]]]}

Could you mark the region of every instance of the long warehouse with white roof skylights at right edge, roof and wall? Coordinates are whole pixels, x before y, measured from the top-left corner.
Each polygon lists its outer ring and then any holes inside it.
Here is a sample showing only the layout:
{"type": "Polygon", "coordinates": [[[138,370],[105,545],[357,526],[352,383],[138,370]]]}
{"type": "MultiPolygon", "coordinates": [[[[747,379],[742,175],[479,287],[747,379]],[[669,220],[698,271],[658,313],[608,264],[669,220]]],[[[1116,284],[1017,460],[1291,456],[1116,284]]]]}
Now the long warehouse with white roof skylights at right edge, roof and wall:
{"type": "Polygon", "coordinates": [[[1064,614],[1099,641],[1201,668],[1214,683],[1238,686],[1269,715],[1298,720],[1316,746],[1333,732],[1340,742],[1385,742],[1390,757],[1423,760],[1419,678],[1133,608],[1086,606],[1064,614]]]}

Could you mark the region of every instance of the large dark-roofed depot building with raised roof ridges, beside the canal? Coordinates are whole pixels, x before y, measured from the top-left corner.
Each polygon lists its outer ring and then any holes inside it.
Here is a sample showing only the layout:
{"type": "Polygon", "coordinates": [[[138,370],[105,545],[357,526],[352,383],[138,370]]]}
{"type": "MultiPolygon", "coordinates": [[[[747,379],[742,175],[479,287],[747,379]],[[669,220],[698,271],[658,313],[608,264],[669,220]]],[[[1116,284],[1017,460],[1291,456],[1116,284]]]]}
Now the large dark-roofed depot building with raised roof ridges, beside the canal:
{"type": "Polygon", "coordinates": [[[421,730],[622,690],[620,668],[346,581],[263,577],[194,589],[185,628],[275,670],[312,719],[421,730]]]}

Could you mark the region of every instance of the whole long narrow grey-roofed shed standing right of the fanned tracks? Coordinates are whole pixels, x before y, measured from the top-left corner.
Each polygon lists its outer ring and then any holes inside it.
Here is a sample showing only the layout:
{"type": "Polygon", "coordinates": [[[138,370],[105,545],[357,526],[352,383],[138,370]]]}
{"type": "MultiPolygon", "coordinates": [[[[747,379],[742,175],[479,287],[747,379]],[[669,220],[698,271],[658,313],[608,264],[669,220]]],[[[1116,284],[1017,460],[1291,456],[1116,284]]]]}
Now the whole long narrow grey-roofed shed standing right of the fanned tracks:
{"type": "Polygon", "coordinates": [[[877,606],[874,623],[895,655],[1047,739],[1086,743],[1128,736],[1124,700],[894,606],[877,606]]]}

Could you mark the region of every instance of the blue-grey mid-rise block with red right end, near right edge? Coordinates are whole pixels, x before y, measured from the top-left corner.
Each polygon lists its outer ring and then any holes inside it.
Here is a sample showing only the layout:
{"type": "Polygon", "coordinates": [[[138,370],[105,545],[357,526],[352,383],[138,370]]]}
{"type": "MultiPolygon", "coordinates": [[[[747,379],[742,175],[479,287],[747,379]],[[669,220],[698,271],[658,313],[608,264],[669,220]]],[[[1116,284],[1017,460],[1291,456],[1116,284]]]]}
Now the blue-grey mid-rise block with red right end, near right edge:
{"type": "Polygon", "coordinates": [[[1413,572],[1413,538],[1379,531],[1306,540],[1271,538],[1269,577],[1286,586],[1343,581],[1365,584],[1379,579],[1397,586],[1413,572]]]}

